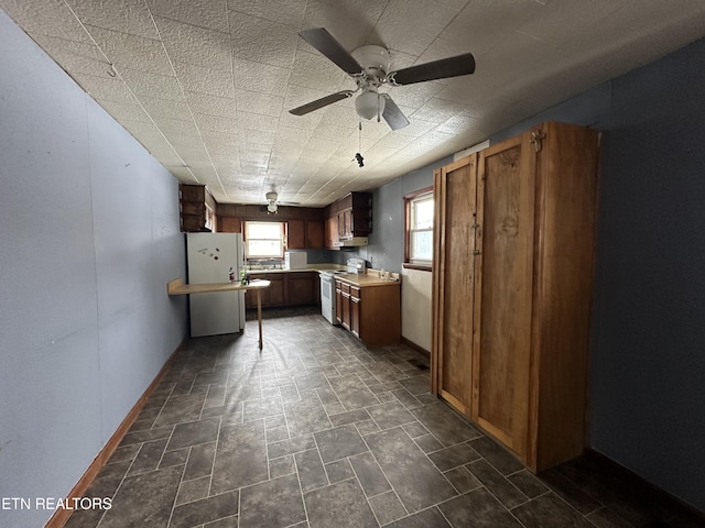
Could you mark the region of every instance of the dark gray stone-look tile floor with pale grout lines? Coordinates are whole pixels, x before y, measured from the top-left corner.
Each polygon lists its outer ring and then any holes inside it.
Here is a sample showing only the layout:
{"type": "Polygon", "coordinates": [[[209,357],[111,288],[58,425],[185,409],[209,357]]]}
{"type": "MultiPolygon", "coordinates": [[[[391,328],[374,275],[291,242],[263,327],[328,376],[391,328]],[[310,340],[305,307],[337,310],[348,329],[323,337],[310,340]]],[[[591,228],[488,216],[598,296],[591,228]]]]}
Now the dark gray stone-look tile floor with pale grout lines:
{"type": "Polygon", "coordinates": [[[588,458],[540,476],[430,393],[427,360],[311,310],[187,341],[67,528],[690,527],[588,458]]]}

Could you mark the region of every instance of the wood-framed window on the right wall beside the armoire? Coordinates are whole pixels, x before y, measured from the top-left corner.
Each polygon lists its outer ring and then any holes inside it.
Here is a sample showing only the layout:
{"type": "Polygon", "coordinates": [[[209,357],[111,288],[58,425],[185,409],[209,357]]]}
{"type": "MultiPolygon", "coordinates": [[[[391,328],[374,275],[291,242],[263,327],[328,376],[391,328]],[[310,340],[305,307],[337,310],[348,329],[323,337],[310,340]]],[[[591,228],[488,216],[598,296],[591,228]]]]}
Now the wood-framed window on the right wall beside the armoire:
{"type": "Polygon", "coordinates": [[[404,267],[430,270],[433,263],[433,187],[404,197],[406,243],[404,267]]]}

